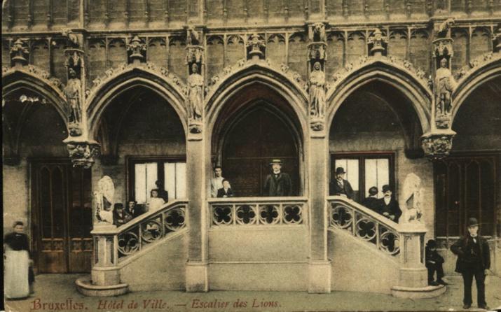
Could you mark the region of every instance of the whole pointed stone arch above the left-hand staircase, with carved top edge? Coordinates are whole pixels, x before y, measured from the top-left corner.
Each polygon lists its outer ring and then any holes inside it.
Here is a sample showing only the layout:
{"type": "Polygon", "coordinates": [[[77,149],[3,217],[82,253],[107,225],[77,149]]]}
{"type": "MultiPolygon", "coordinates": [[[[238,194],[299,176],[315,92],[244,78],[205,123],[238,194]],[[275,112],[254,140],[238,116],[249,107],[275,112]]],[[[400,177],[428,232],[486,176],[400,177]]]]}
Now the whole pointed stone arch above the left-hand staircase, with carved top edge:
{"type": "Polygon", "coordinates": [[[117,69],[109,69],[102,78],[94,80],[94,85],[85,101],[90,135],[94,137],[99,128],[99,120],[111,102],[133,87],[146,87],[163,97],[176,111],[184,132],[187,131],[184,90],[186,86],[167,69],[154,64],[124,64],[117,69]]]}

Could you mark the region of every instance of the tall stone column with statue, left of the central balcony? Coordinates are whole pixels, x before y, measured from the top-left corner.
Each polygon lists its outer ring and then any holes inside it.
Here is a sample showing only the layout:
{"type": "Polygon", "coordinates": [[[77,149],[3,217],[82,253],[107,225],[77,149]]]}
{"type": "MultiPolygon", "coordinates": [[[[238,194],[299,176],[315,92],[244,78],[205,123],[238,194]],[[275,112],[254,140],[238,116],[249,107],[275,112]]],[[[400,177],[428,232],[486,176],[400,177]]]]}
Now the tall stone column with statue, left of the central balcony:
{"type": "Polygon", "coordinates": [[[204,59],[202,34],[193,27],[186,32],[186,65],[188,86],[188,134],[186,136],[186,187],[188,189],[188,262],[186,263],[186,291],[207,292],[207,207],[205,205],[205,133],[203,75],[204,59]]]}

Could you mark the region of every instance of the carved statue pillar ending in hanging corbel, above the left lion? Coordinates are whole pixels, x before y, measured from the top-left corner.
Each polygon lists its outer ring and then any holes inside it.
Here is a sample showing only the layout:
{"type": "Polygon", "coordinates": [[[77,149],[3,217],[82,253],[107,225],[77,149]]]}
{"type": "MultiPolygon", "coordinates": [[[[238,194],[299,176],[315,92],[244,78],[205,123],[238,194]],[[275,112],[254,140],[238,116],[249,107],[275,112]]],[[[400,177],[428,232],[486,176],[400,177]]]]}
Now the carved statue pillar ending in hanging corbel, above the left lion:
{"type": "Polygon", "coordinates": [[[67,145],[69,157],[74,166],[90,168],[94,157],[99,154],[99,144],[89,137],[87,112],[85,111],[85,53],[81,50],[82,34],[74,34],[69,29],[62,31],[67,36],[64,50],[67,67],[67,85],[63,93],[68,105],[68,134],[63,143],[67,145]]]}

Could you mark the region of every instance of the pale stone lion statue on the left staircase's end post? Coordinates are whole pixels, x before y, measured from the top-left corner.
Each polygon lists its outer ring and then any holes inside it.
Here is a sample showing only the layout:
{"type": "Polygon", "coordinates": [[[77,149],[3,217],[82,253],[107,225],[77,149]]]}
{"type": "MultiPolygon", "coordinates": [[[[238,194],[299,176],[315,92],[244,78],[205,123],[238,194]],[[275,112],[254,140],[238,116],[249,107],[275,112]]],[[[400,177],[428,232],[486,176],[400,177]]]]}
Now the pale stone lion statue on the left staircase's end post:
{"type": "Polygon", "coordinates": [[[98,222],[113,224],[115,185],[109,176],[103,176],[94,192],[95,216],[98,222]]]}

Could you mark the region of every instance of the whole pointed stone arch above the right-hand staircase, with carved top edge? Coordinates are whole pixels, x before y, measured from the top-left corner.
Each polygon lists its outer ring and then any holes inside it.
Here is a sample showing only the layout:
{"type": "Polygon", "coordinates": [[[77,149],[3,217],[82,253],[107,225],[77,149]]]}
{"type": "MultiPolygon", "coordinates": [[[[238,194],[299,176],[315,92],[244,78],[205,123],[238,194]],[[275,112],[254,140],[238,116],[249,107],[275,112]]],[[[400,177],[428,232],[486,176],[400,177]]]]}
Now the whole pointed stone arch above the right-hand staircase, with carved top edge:
{"type": "Polygon", "coordinates": [[[423,133],[430,130],[432,91],[426,84],[425,73],[411,63],[392,57],[362,58],[357,66],[335,73],[336,81],[327,91],[327,133],[338,108],[352,92],[373,81],[382,81],[399,90],[409,99],[418,115],[423,133]]]}

